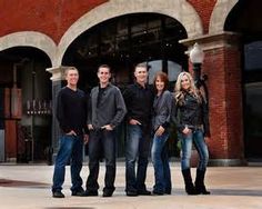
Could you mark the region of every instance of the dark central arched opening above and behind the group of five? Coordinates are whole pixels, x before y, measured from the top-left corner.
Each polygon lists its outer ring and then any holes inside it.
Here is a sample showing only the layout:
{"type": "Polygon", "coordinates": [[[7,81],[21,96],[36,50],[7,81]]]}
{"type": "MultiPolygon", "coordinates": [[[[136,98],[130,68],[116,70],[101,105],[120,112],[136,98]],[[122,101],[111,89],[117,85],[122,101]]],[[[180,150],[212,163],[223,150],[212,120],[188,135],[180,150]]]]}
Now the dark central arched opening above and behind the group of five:
{"type": "MultiPolygon", "coordinates": [[[[187,50],[179,40],[188,38],[184,27],[173,18],[158,13],[125,14],[101,22],[78,37],[68,48],[62,66],[75,66],[80,70],[80,88],[87,92],[98,84],[97,69],[101,63],[110,64],[112,82],[122,90],[133,81],[135,64],[147,62],[149,82],[159,70],[169,74],[173,82],[178,73],[188,69],[187,50]]],[[[119,156],[123,151],[119,138],[119,156]]],[[[172,150],[174,146],[172,145],[172,150]]]]}

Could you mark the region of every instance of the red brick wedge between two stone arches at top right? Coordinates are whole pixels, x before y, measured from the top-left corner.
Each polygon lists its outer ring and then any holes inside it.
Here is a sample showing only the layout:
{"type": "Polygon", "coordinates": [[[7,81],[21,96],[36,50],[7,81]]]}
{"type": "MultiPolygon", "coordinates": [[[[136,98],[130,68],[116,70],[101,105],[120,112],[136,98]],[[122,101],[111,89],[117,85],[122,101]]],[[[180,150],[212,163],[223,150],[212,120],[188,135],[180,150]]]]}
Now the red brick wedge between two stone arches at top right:
{"type": "Polygon", "coordinates": [[[203,22],[204,33],[209,31],[210,17],[213,11],[216,0],[188,0],[191,3],[203,22]]]}

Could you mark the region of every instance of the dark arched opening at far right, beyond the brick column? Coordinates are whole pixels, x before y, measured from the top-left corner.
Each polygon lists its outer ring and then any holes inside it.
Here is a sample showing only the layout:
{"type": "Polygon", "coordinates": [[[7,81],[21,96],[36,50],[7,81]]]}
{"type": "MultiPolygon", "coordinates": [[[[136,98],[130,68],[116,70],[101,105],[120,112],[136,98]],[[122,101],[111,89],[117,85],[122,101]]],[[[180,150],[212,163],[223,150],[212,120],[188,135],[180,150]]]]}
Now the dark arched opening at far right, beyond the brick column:
{"type": "Polygon", "coordinates": [[[224,30],[240,33],[244,107],[245,158],[262,159],[262,13],[261,1],[240,0],[224,30]]]}

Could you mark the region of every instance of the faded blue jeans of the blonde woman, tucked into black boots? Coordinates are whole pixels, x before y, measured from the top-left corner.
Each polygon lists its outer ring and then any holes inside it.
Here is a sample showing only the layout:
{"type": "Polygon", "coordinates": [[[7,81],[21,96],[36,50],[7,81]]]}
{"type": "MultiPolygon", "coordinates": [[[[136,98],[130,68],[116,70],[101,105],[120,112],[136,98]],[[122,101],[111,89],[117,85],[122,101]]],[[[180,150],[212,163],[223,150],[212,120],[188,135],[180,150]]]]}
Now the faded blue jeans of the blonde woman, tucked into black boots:
{"type": "Polygon", "coordinates": [[[185,170],[190,168],[190,158],[192,143],[194,145],[199,153],[199,170],[205,170],[209,161],[209,150],[204,141],[203,131],[196,129],[189,135],[182,133],[181,148],[182,148],[182,159],[181,159],[181,169],[185,170]]]}

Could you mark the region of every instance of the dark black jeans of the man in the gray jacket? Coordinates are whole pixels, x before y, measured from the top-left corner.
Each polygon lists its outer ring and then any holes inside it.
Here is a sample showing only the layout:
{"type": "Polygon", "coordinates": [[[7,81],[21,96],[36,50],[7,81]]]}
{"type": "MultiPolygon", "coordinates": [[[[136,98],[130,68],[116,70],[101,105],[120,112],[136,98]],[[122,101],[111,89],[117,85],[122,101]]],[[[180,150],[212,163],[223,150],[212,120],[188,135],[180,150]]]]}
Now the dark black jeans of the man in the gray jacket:
{"type": "Polygon", "coordinates": [[[115,179],[115,131],[91,130],[89,137],[89,177],[87,190],[97,191],[99,189],[99,161],[101,156],[105,159],[105,177],[103,191],[114,191],[115,179]]]}

